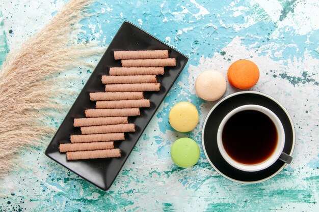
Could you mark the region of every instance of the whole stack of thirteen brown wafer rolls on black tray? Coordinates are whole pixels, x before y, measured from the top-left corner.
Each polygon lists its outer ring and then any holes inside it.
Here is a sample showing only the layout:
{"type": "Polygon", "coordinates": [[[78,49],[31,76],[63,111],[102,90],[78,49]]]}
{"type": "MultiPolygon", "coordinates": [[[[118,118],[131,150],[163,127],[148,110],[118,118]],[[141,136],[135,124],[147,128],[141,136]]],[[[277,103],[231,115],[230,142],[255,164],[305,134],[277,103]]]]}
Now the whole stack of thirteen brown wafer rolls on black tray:
{"type": "Polygon", "coordinates": [[[115,141],[135,132],[128,116],[138,116],[140,108],[151,106],[143,92],[159,91],[156,75],[164,75],[166,66],[176,66],[168,50],[115,51],[114,59],[121,59],[123,67],[111,67],[109,75],[101,77],[105,92],[90,93],[95,109],[86,109],[84,118],[74,118],[73,126],[80,128],[81,135],[71,135],[70,143],[60,144],[67,160],[120,157],[115,141]]]}

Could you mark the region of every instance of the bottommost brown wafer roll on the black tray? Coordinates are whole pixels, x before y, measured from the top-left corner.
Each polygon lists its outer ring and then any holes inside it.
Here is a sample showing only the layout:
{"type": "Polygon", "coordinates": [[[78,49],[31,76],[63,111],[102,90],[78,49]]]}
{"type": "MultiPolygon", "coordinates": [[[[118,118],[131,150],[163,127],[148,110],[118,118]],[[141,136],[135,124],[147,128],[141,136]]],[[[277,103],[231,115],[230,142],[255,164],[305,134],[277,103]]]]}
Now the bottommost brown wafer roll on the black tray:
{"type": "Polygon", "coordinates": [[[68,160],[118,158],[118,157],[121,157],[121,150],[119,148],[66,153],[66,158],[68,160]]]}

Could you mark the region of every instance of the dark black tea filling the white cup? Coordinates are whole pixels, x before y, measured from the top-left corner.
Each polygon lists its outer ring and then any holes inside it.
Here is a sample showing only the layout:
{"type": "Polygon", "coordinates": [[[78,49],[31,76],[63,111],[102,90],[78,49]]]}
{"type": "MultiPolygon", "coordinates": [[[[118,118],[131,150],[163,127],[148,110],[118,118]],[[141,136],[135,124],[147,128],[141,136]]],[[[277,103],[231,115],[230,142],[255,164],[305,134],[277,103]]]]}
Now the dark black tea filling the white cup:
{"type": "Polygon", "coordinates": [[[278,133],[272,119],[256,110],[243,110],[232,115],[222,132],[226,153],[236,162],[254,165],[272,156],[278,133]]]}

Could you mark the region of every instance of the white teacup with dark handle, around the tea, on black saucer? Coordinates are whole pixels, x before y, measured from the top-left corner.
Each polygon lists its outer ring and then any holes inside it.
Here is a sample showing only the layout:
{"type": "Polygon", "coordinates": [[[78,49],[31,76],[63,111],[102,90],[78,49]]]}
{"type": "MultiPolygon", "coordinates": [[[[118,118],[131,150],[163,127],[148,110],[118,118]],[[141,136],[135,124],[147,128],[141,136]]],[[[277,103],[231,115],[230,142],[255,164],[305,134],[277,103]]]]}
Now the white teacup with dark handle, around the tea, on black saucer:
{"type": "Polygon", "coordinates": [[[241,107],[237,107],[230,111],[222,120],[218,132],[217,132],[217,144],[219,151],[223,158],[226,160],[227,163],[229,163],[231,166],[235,167],[236,169],[240,169],[243,171],[260,171],[265,168],[268,168],[269,166],[273,165],[278,159],[289,164],[291,160],[293,159],[291,156],[283,153],[283,147],[285,144],[285,132],[283,129],[283,126],[280,122],[280,119],[277,117],[277,115],[272,112],[270,109],[259,106],[259,105],[244,105],[241,107]],[[263,114],[267,115],[275,124],[276,130],[277,130],[277,145],[275,147],[275,150],[273,151],[273,154],[267,158],[266,160],[257,163],[257,164],[243,164],[240,162],[235,161],[232,159],[226,152],[223,141],[222,141],[222,133],[225,124],[229,120],[231,116],[233,116],[235,113],[244,111],[244,110],[256,110],[259,112],[262,112],[263,114]]]}

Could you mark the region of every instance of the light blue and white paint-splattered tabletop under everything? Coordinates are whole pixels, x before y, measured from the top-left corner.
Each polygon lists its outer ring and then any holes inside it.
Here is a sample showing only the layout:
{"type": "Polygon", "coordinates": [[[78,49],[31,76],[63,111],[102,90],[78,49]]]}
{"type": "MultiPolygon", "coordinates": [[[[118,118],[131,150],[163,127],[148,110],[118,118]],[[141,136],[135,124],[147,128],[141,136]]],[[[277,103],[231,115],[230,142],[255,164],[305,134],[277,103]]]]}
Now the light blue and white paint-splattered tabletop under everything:
{"type": "MultiPolygon", "coordinates": [[[[0,2],[0,56],[41,29],[63,3],[0,2]]],[[[98,1],[91,7],[96,15],[81,22],[79,38],[107,46],[128,20],[188,55],[189,63],[108,192],[50,161],[43,147],[22,152],[24,167],[0,180],[0,211],[319,211],[318,9],[316,0],[98,1]],[[202,71],[216,69],[226,76],[229,65],[243,58],[261,72],[251,90],[286,107],[297,137],[293,163],[255,185],[233,183],[209,165],[201,130],[216,102],[205,102],[194,91],[202,71]],[[168,112],[179,101],[193,103],[200,112],[198,126],[188,134],[168,124],[168,112]],[[192,168],[180,169],[171,161],[170,147],[180,137],[191,137],[201,147],[192,168]]],[[[75,70],[74,79],[66,81],[69,89],[78,93],[91,71],[75,70]]],[[[228,85],[225,96],[237,91],[228,85]]],[[[74,99],[61,101],[71,106],[74,99]]],[[[49,125],[58,127],[65,114],[52,116],[49,125]]]]}

